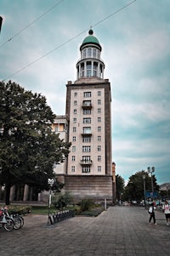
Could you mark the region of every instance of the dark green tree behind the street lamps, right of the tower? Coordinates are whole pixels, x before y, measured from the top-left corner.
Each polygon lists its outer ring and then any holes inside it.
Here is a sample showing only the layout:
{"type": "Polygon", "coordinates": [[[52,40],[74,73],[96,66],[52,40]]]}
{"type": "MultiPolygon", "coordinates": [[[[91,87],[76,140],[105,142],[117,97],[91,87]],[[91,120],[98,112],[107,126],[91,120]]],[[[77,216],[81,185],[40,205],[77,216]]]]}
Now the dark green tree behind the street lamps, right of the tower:
{"type": "MultiPolygon", "coordinates": [[[[145,190],[151,191],[151,178],[150,175],[145,171],[139,171],[129,177],[129,181],[124,191],[125,200],[141,201],[144,199],[144,179],[145,176],[145,190]]],[[[158,191],[159,186],[156,184],[156,176],[153,175],[154,190],[158,191]]]]}

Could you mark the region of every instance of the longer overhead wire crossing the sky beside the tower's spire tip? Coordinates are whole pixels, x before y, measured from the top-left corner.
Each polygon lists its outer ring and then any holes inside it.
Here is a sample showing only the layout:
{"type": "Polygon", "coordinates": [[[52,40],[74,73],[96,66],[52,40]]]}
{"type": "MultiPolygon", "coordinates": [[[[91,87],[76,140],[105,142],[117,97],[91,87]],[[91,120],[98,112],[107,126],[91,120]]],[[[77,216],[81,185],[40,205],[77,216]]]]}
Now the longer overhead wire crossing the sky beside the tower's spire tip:
{"type": "MultiPolygon", "coordinates": [[[[115,14],[121,12],[123,9],[126,9],[129,5],[133,4],[134,2],[136,2],[136,0],[133,0],[133,1],[130,2],[130,3],[127,3],[127,4],[124,5],[121,9],[118,9],[118,10],[116,10],[114,13],[109,14],[109,15],[106,16],[104,19],[99,20],[97,23],[95,23],[95,24],[94,24],[93,26],[91,26],[91,27],[98,26],[101,22],[103,22],[104,20],[107,20],[107,19],[111,18],[111,16],[113,16],[113,15],[115,15],[115,14]]],[[[89,28],[88,28],[88,29],[89,29],[89,28]]],[[[42,60],[42,58],[46,57],[48,54],[51,54],[51,53],[53,53],[55,50],[57,50],[57,49],[63,47],[65,44],[70,43],[72,40],[74,40],[75,38],[81,36],[84,32],[88,31],[88,29],[86,29],[86,30],[84,30],[84,31],[82,31],[82,32],[80,32],[80,33],[78,33],[78,34],[77,34],[76,36],[74,36],[74,37],[71,37],[71,38],[70,38],[68,41],[66,41],[65,43],[61,43],[61,44],[60,44],[59,46],[57,46],[56,48],[50,50],[47,54],[43,54],[43,55],[42,55],[41,57],[39,57],[37,60],[34,60],[34,61],[32,61],[31,63],[29,63],[28,65],[23,66],[22,68],[20,68],[20,70],[14,72],[12,75],[10,75],[10,76],[8,76],[8,77],[5,77],[5,78],[3,79],[3,81],[7,80],[7,79],[10,78],[10,77],[14,77],[14,75],[20,73],[20,71],[25,70],[27,67],[29,67],[29,66],[35,64],[37,61],[42,60]]]]}

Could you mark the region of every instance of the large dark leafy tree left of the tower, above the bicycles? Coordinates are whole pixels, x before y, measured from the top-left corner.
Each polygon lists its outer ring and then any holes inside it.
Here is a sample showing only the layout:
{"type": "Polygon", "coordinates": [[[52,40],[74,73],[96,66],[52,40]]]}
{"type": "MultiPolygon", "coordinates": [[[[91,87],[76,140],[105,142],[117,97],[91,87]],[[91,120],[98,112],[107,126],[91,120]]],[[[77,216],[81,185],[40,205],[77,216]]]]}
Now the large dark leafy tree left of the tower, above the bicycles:
{"type": "Polygon", "coordinates": [[[15,82],[0,82],[0,185],[6,204],[12,185],[48,188],[53,165],[63,162],[70,143],[54,134],[54,113],[41,94],[26,91],[15,82]]]}

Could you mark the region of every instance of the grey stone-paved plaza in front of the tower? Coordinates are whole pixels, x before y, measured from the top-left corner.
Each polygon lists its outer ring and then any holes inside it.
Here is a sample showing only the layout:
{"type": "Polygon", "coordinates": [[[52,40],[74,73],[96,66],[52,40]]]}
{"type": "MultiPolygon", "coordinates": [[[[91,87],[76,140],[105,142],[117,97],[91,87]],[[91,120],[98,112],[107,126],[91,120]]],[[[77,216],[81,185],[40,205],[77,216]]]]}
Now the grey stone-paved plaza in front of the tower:
{"type": "Polygon", "coordinates": [[[3,256],[167,256],[170,226],[156,211],[148,224],[142,207],[111,207],[99,217],[74,217],[48,226],[45,215],[27,215],[20,230],[0,230],[3,256]]]}

